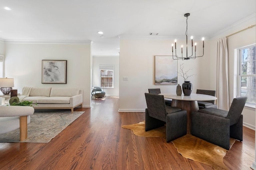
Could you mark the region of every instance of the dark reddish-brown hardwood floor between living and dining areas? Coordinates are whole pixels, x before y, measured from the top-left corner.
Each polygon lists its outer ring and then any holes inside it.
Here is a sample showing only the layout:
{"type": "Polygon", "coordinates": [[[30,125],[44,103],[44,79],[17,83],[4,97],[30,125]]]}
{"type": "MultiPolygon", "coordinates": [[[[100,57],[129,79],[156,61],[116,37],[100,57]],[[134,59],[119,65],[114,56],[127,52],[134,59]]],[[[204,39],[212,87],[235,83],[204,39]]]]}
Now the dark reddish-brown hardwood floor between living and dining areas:
{"type": "MultiPolygon", "coordinates": [[[[118,98],[92,100],[85,111],[49,143],[0,143],[0,170],[212,170],[182,157],[160,137],[138,137],[122,125],[144,120],[143,112],[118,112],[118,98]]],[[[249,170],[255,131],[244,127],[224,157],[230,170],[249,170]]]]}

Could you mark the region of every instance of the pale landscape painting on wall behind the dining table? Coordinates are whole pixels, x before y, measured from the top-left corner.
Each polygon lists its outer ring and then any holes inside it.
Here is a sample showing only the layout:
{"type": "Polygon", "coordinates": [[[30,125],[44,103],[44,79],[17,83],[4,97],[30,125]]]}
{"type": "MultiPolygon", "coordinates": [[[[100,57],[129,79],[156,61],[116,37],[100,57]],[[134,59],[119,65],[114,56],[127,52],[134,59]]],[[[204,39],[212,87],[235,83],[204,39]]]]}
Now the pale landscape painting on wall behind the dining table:
{"type": "Polygon", "coordinates": [[[172,56],[155,55],[155,84],[178,84],[178,61],[172,56]]]}

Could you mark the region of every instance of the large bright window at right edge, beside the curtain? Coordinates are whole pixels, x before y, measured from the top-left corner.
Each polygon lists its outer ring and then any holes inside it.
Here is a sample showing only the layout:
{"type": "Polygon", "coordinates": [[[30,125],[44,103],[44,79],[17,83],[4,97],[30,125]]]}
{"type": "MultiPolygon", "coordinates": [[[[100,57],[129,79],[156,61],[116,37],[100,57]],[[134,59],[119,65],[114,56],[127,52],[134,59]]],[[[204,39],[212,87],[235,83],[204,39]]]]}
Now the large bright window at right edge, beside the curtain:
{"type": "Polygon", "coordinates": [[[256,62],[255,45],[239,49],[238,95],[247,96],[246,106],[255,108],[256,103],[256,62]]]}

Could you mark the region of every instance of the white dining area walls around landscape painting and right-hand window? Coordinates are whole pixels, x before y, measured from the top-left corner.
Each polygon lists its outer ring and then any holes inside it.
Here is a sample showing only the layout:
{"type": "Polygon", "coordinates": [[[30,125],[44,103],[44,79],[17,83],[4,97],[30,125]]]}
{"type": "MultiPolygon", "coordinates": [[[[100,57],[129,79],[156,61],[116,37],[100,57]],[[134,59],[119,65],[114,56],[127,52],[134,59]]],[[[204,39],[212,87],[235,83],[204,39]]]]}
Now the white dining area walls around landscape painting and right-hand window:
{"type": "MultiPolygon", "coordinates": [[[[196,89],[216,90],[216,40],[222,36],[229,35],[246,27],[255,24],[255,15],[241,21],[232,27],[216,34],[210,40],[205,41],[204,57],[190,59],[188,61],[178,60],[178,69],[180,64],[184,63],[184,68],[192,69],[191,74],[196,74],[190,78],[193,84],[192,93],[196,89]]],[[[230,83],[230,102],[233,96],[233,70],[234,70],[234,48],[242,47],[255,43],[255,27],[233,35],[228,39],[229,50],[229,83],[230,83]],[[244,45],[243,45],[244,44],[244,45]]],[[[194,41],[196,42],[196,41],[194,41]]],[[[119,93],[119,111],[144,111],[146,101],[144,93],[148,88],[160,88],[162,93],[176,93],[176,85],[154,85],[154,55],[171,55],[172,40],[156,39],[125,39],[120,40],[120,93],[119,93]],[[122,77],[128,77],[128,81],[122,80],[122,77]]],[[[178,40],[177,48],[184,40],[178,40]],[[180,43],[181,42],[181,43],[180,43]]],[[[197,47],[197,51],[199,49],[197,47]]],[[[202,53],[202,51],[200,51],[202,53]]],[[[200,53],[199,52],[199,53],[200,53]]],[[[180,53],[178,50],[177,53],[180,53]]],[[[198,54],[199,54],[198,53],[198,54]]],[[[178,84],[183,80],[178,76],[178,84]]],[[[244,125],[255,129],[255,109],[244,108],[244,125]]]]}

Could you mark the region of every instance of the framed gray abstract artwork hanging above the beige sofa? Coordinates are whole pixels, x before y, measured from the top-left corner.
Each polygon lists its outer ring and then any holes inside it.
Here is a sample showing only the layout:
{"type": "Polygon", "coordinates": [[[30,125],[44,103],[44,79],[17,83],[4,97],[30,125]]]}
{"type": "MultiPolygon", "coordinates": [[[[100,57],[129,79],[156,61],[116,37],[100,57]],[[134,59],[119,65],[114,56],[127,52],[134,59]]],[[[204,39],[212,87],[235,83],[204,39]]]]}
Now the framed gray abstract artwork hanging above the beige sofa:
{"type": "Polygon", "coordinates": [[[42,60],[42,83],[67,84],[67,61],[42,60]]]}

